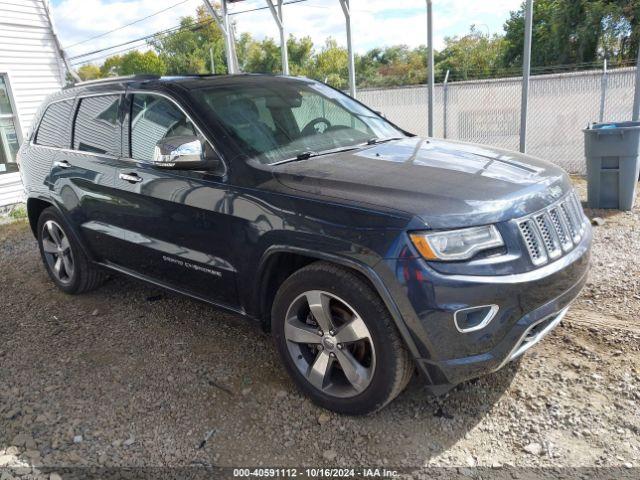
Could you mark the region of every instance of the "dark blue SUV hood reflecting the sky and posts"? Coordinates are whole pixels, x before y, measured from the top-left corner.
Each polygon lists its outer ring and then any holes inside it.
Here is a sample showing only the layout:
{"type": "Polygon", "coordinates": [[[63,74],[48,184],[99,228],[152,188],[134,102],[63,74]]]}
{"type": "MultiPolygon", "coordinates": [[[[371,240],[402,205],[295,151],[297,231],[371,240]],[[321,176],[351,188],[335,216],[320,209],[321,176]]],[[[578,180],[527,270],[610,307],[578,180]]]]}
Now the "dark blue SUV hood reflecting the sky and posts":
{"type": "Polygon", "coordinates": [[[392,208],[430,228],[518,218],[570,190],[543,160],[492,147],[410,137],[274,167],[278,181],[313,197],[392,208]]]}

